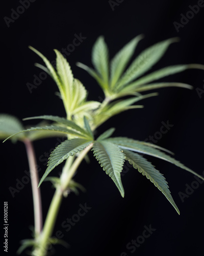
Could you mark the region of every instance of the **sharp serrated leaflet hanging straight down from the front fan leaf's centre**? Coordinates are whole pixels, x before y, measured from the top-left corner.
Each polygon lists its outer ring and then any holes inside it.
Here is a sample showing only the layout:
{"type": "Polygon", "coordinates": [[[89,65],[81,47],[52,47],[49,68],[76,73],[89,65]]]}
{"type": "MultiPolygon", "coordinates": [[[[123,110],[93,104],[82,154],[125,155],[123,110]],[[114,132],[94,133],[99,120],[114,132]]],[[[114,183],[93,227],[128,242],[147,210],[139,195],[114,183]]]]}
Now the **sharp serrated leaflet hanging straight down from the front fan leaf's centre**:
{"type": "Polygon", "coordinates": [[[120,173],[124,163],[124,154],[117,145],[107,141],[95,141],[92,148],[93,154],[106,171],[124,197],[124,189],[121,182],[120,173]]]}

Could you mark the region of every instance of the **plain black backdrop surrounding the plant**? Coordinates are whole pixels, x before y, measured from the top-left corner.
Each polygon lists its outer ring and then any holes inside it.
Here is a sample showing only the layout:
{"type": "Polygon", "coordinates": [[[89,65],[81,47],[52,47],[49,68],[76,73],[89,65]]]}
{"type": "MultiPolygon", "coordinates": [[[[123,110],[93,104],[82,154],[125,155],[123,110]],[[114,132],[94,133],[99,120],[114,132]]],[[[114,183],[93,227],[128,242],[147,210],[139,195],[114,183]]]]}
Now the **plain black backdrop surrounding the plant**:
{"type": "MultiPolygon", "coordinates": [[[[99,100],[103,93],[85,71],[75,66],[80,61],[91,66],[91,49],[99,35],[104,35],[110,50],[110,57],[138,34],[144,34],[135,56],[146,47],[170,37],[180,37],[172,44],[164,57],[152,68],[181,63],[204,64],[204,8],[176,31],[173,22],[186,15],[189,5],[197,1],[121,1],[111,8],[106,1],[39,1],[31,3],[14,23],[8,27],[4,17],[11,16],[11,9],[17,9],[19,1],[2,3],[1,8],[1,112],[22,119],[37,115],[65,116],[61,100],[55,95],[57,87],[47,78],[40,86],[29,92],[27,83],[33,83],[34,75],[41,72],[34,67],[41,59],[28,49],[31,45],[49,60],[55,59],[53,49],[66,48],[74,34],[86,37],[82,44],[68,56],[74,77],[80,79],[89,91],[88,99],[99,100]]],[[[189,83],[194,90],[167,88],[159,90],[160,95],[144,100],[144,109],[131,110],[113,117],[100,126],[97,133],[109,127],[117,127],[115,136],[128,136],[144,140],[160,131],[162,121],[169,120],[173,127],[158,141],[158,145],[175,153],[175,158],[186,166],[203,173],[203,100],[196,88],[203,89],[204,72],[188,70],[166,77],[164,81],[189,83]]],[[[25,124],[30,124],[26,122],[25,124]]],[[[33,122],[35,123],[35,122],[33,122]]],[[[38,164],[44,152],[49,152],[57,139],[44,139],[34,143],[38,164]]],[[[125,197],[122,199],[112,180],[92,157],[91,163],[81,165],[74,179],[83,184],[87,191],[79,196],[70,194],[64,199],[55,226],[64,234],[69,249],[56,245],[56,255],[203,255],[203,187],[199,185],[192,195],[182,202],[179,191],[185,193],[186,184],[191,186],[193,175],[163,160],[148,158],[163,173],[169,183],[175,203],[181,211],[179,216],[162,193],[135,169],[130,168],[122,177],[125,197]],[[70,231],[62,227],[66,218],[77,214],[79,204],[91,207],[88,213],[70,231]],[[156,230],[135,252],[126,248],[127,243],[140,236],[144,226],[156,230]],[[124,254],[125,255],[125,254],[124,254]]],[[[23,144],[6,142],[1,145],[1,169],[3,178],[3,201],[9,203],[9,255],[15,255],[19,241],[31,238],[33,225],[33,204],[30,183],[13,198],[9,187],[15,187],[21,180],[28,162],[23,144]]],[[[60,168],[54,170],[58,175],[60,168]]],[[[54,189],[49,183],[41,186],[43,217],[46,216],[54,189]]],[[[3,219],[2,219],[3,222],[3,219]]],[[[1,250],[3,251],[3,235],[1,250]]],[[[22,253],[25,255],[25,253],[22,253]]]]}

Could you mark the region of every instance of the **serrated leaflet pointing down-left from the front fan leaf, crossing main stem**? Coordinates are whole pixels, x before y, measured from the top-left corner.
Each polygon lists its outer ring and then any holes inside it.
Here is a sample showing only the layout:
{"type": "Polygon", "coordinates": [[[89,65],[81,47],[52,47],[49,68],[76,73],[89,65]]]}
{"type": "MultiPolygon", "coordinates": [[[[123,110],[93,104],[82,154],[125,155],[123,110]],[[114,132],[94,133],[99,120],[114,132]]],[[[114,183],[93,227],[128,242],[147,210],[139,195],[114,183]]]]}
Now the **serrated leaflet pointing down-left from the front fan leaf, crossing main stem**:
{"type": "Polygon", "coordinates": [[[66,160],[69,156],[84,150],[92,141],[87,141],[87,139],[71,139],[65,140],[60,145],[58,145],[55,150],[50,154],[49,161],[47,163],[47,169],[45,170],[44,175],[42,176],[38,187],[41,185],[43,180],[47,175],[60,163],[66,160]]]}

